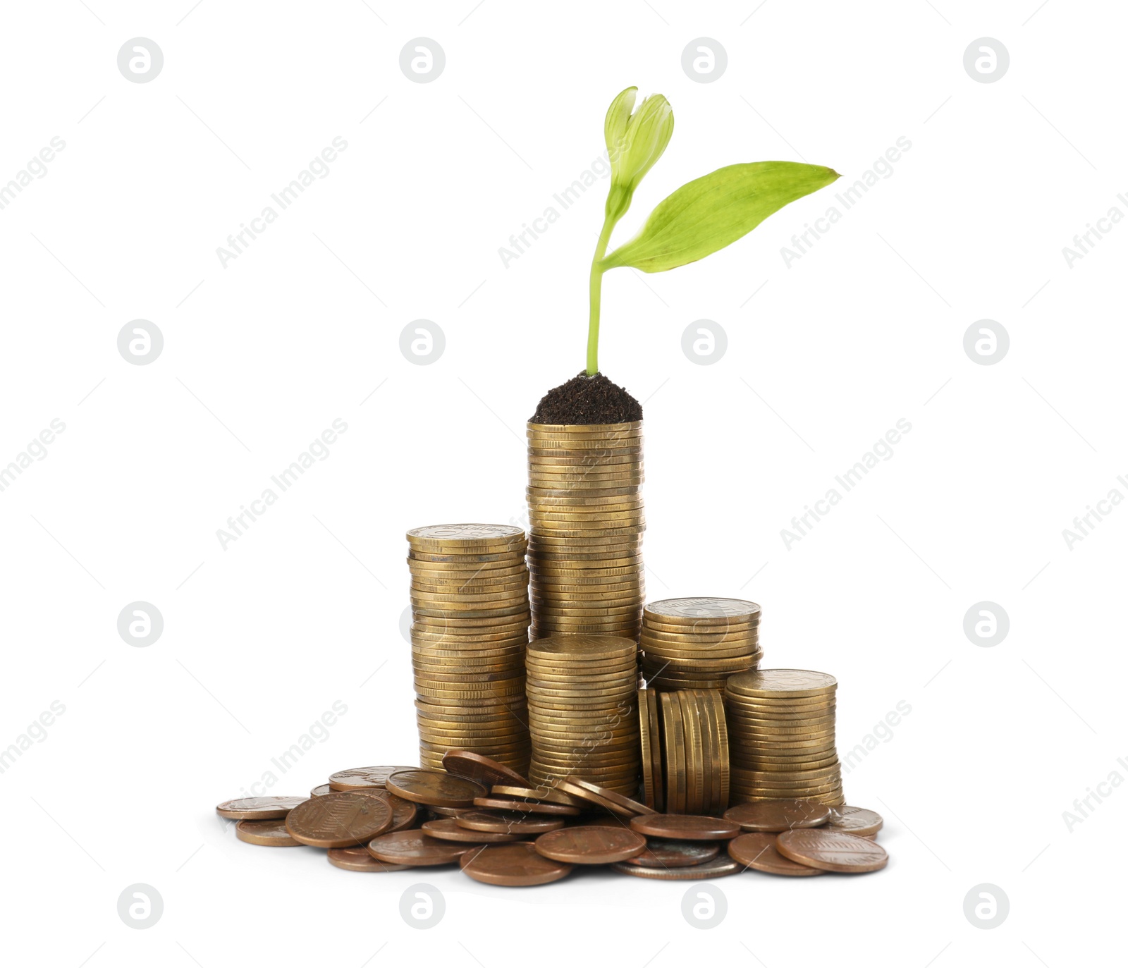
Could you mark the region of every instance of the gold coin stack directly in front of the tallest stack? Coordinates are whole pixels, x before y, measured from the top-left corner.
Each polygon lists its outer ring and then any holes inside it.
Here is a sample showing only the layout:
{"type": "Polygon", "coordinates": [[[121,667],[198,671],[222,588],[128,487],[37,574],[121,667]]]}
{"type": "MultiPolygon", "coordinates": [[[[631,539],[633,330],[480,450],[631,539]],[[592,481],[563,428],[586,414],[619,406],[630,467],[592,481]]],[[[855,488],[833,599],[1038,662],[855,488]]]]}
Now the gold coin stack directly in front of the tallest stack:
{"type": "Polygon", "coordinates": [[[634,640],[614,635],[553,635],[529,644],[534,786],[572,776],[635,795],[641,756],[635,653],[634,640]]]}

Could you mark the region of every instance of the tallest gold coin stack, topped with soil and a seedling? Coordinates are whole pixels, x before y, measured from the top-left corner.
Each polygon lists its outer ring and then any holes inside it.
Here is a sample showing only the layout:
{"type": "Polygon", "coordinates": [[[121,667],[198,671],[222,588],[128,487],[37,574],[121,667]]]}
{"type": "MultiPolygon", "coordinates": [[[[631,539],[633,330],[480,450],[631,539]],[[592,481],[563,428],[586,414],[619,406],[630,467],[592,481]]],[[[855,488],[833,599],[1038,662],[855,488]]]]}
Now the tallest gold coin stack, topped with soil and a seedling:
{"type": "Polygon", "coordinates": [[[642,421],[528,425],[532,637],[638,637],[642,421]]]}

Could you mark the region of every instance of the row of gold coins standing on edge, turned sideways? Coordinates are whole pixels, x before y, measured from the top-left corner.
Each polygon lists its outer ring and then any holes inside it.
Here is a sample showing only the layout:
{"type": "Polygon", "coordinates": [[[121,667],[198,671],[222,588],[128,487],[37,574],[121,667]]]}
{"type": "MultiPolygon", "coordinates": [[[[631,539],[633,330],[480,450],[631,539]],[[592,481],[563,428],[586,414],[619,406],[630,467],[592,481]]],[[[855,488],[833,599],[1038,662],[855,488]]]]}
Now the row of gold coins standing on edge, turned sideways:
{"type": "Polygon", "coordinates": [[[638,690],[643,799],[668,813],[729,806],[729,730],[715,689],[638,690]]]}

